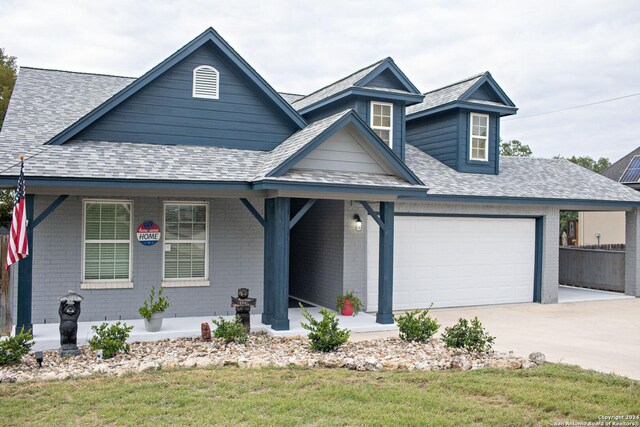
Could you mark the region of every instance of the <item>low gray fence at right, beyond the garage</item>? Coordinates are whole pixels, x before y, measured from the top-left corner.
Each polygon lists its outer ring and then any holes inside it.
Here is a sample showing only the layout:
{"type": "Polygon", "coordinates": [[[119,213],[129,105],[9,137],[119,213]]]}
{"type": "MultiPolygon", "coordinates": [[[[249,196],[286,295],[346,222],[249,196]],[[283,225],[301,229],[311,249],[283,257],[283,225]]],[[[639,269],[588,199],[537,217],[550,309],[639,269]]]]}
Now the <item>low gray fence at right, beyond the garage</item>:
{"type": "Polygon", "coordinates": [[[625,251],[560,248],[560,283],[624,292],[625,251]]]}

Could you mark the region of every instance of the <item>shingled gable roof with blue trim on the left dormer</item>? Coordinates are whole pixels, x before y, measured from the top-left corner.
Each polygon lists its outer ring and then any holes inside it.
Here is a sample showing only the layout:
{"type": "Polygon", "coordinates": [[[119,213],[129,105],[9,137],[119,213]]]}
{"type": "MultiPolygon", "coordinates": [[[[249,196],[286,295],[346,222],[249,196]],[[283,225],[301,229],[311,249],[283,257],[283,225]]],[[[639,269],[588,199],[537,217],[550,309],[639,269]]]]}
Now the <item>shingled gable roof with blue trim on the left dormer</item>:
{"type": "MultiPolygon", "coordinates": [[[[410,94],[419,95],[418,89],[409,81],[408,78],[402,73],[402,71],[395,65],[393,59],[385,58],[378,62],[375,62],[367,67],[364,67],[353,74],[348,75],[328,86],[318,89],[309,95],[304,96],[291,105],[298,111],[307,111],[311,106],[325,101],[329,98],[333,98],[349,89],[359,88],[364,90],[364,85],[369,83],[373,77],[380,74],[382,71],[390,70],[400,80],[406,90],[389,89],[380,87],[368,87],[367,90],[383,91],[397,94],[410,94]]],[[[418,98],[421,99],[421,98],[418,98]]],[[[416,101],[414,101],[416,102],[416,101]]]]}

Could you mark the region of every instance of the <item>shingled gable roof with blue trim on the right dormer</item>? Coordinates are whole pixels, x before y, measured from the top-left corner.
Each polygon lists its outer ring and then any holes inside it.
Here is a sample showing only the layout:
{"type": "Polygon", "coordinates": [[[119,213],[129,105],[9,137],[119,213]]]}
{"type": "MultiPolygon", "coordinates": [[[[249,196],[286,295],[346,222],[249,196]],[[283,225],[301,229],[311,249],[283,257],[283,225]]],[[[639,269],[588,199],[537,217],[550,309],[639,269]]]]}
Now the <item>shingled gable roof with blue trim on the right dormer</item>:
{"type": "Polygon", "coordinates": [[[504,91],[493,80],[491,73],[485,71],[484,73],[476,74],[475,76],[468,77],[456,83],[441,87],[439,89],[432,90],[423,94],[424,99],[421,103],[410,105],[407,107],[407,119],[411,116],[420,116],[420,113],[431,111],[437,107],[454,105],[456,102],[464,101],[470,104],[480,104],[484,106],[494,106],[500,108],[507,108],[508,110],[516,111],[513,102],[506,96],[504,91]],[[489,85],[495,94],[500,99],[500,102],[470,99],[469,97],[484,84],[489,85]]]}

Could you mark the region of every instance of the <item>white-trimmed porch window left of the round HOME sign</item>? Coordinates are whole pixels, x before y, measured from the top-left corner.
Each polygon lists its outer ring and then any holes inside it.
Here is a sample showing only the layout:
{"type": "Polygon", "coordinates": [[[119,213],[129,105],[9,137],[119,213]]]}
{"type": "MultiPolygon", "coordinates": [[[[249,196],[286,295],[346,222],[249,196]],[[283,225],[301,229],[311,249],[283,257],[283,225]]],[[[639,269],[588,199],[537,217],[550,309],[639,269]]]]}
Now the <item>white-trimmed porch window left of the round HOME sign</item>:
{"type": "Polygon", "coordinates": [[[84,201],[82,281],[131,281],[131,202],[84,201]]]}

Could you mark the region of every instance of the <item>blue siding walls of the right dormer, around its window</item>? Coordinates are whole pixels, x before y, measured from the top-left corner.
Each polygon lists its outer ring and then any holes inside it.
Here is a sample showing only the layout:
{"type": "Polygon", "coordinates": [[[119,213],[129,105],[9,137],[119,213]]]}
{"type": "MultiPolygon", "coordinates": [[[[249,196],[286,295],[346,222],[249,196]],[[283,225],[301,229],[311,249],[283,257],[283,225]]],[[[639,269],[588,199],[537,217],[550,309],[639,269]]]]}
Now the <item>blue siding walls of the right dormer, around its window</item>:
{"type": "Polygon", "coordinates": [[[407,143],[458,172],[497,175],[500,158],[500,118],[497,114],[489,115],[488,161],[471,160],[471,113],[469,110],[452,110],[410,120],[407,123],[407,143]]]}

